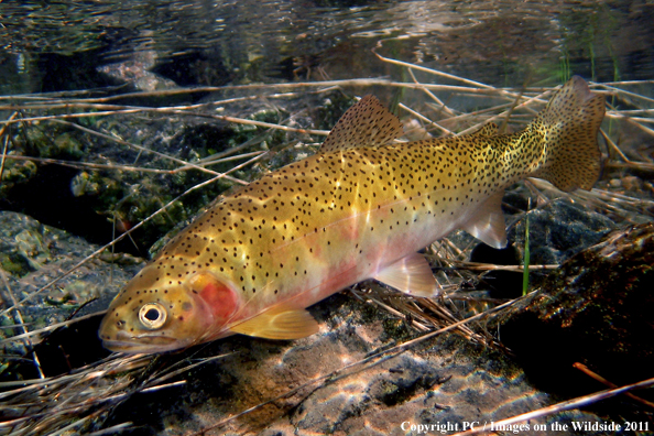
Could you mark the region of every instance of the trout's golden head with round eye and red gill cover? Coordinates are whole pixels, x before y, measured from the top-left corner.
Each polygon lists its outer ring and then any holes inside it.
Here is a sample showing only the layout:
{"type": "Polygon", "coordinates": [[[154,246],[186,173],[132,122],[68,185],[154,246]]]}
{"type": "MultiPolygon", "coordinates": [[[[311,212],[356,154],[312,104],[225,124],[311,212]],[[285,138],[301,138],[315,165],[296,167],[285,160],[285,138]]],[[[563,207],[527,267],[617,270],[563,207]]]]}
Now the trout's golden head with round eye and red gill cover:
{"type": "Polygon", "coordinates": [[[99,330],[102,345],[111,351],[154,353],[227,336],[238,294],[226,282],[211,272],[171,280],[160,264],[145,266],[109,306],[99,330]]]}

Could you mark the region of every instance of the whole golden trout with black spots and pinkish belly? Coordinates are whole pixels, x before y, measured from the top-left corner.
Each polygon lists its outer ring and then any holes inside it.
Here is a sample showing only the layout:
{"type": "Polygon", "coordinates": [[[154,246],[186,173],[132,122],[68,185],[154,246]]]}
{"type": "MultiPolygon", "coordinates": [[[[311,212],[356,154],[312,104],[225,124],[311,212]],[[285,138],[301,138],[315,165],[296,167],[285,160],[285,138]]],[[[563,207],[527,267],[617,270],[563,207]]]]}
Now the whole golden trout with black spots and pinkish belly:
{"type": "Polygon", "coordinates": [[[402,123],[374,97],[352,106],[317,154],[199,215],[113,299],[105,347],[162,352],[243,334],[318,331],[305,309],[357,282],[436,296],[417,251],[453,230],[506,244],[504,188],[542,177],[590,189],[604,97],[574,77],[524,130],[392,143],[402,123]]]}

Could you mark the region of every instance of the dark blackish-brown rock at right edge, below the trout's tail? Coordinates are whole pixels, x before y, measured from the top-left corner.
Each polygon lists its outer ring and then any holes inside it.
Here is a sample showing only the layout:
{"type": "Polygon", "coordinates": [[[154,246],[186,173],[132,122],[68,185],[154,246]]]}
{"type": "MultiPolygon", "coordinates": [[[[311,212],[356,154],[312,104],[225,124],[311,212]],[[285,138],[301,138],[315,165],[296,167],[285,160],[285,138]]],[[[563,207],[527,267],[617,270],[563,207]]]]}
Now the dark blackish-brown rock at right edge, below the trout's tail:
{"type": "Polygon", "coordinates": [[[500,329],[531,379],[548,390],[589,388],[575,362],[615,384],[647,379],[654,368],[653,265],[653,224],[615,230],[490,328],[500,329]]]}

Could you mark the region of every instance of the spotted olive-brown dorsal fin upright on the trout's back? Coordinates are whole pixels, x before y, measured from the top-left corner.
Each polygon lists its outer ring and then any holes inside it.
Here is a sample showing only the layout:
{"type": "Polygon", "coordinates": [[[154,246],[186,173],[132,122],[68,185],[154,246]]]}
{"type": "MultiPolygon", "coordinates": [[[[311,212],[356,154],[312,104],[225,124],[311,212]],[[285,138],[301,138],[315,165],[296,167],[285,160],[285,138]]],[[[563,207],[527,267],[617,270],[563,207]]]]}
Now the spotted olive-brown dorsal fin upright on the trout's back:
{"type": "Polygon", "coordinates": [[[368,95],[340,117],[319,152],[385,145],[400,138],[403,130],[397,117],[368,95]]]}

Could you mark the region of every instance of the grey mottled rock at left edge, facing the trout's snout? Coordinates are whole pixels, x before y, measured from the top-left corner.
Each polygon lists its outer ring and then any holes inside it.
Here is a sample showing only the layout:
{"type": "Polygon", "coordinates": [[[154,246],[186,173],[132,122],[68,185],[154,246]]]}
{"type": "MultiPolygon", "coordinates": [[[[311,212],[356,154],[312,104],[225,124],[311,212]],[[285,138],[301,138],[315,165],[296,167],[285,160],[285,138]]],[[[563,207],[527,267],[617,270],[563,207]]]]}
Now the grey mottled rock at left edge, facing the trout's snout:
{"type": "MultiPolygon", "coordinates": [[[[107,307],[143,261],[103,253],[74,269],[98,248],[25,215],[0,211],[0,340],[107,307]],[[56,283],[47,286],[54,280],[56,283]],[[18,310],[10,309],[15,307],[14,302],[20,302],[18,310]],[[24,328],[19,327],[21,323],[24,328]]],[[[99,318],[95,324],[76,323],[54,334],[31,336],[25,342],[3,344],[0,361],[15,364],[0,366],[0,380],[34,377],[32,349],[37,351],[46,375],[65,373],[107,356],[97,338],[98,324],[99,318]]]]}

